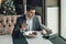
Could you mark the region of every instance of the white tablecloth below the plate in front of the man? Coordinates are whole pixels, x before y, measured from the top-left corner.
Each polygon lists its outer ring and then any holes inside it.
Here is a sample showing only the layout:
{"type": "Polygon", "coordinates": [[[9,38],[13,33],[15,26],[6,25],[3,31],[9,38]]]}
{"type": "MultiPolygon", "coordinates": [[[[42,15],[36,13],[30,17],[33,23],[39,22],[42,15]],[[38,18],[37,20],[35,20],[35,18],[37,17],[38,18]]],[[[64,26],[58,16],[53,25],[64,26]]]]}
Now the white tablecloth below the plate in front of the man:
{"type": "Polygon", "coordinates": [[[42,37],[43,35],[41,35],[40,32],[37,32],[36,37],[34,38],[26,38],[26,41],[29,42],[29,44],[53,44],[50,40],[46,40],[44,37],[42,37]]]}

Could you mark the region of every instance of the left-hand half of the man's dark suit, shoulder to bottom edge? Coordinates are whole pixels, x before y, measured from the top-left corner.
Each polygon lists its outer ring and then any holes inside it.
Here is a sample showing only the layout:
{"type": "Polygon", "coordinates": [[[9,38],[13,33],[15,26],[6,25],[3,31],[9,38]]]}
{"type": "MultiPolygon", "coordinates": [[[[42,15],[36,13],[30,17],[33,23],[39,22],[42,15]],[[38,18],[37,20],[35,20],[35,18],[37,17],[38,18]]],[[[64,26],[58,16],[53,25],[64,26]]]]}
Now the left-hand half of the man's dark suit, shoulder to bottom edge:
{"type": "Polygon", "coordinates": [[[23,33],[20,32],[21,23],[23,22],[22,19],[25,20],[24,16],[18,18],[16,24],[14,25],[13,33],[12,33],[13,44],[29,44],[23,33]]]}

